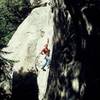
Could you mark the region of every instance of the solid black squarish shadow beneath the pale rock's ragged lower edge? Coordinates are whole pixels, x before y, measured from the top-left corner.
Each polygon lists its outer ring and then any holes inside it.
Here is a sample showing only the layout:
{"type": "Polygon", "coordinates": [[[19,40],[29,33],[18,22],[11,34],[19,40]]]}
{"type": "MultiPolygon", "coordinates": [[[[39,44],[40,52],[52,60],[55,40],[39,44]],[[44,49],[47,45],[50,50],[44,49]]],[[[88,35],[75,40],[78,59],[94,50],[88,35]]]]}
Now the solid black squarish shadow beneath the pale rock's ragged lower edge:
{"type": "Polygon", "coordinates": [[[37,75],[28,72],[14,72],[12,83],[12,100],[38,100],[37,75]]]}

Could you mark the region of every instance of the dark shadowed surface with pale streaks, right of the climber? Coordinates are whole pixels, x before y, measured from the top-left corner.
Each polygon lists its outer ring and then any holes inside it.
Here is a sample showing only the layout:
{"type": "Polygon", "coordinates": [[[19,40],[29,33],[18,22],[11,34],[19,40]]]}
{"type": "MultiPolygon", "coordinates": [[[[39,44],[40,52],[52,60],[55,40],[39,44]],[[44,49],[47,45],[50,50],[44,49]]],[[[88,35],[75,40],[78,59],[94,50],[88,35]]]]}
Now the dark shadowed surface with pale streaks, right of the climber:
{"type": "Polygon", "coordinates": [[[45,99],[99,100],[100,2],[53,0],[53,5],[54,46],[45,99]]]}

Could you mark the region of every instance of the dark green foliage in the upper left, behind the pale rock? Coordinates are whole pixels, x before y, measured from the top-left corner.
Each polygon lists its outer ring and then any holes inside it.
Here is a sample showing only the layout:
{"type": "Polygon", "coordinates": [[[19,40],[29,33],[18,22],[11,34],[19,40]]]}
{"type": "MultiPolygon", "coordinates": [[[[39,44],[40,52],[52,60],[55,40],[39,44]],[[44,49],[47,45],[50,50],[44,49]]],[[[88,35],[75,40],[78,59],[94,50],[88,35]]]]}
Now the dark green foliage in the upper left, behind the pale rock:
{"type": "Polygon", "coordinates": [[[0,34],[4,36],[6,43],[31,9],[29,0],[0,1],[0,34]]]}

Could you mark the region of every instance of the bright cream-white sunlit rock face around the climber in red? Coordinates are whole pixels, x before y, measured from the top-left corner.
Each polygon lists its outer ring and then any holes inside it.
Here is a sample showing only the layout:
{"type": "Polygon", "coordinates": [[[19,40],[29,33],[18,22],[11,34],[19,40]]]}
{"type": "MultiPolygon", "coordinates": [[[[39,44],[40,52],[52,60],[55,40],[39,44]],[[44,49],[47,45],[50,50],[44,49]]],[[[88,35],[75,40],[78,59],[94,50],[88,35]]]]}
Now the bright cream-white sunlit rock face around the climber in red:
{"type": "MultiPolygon", "coordinates": [[[[35,69],[35,59],[48,38],[51,55],[52,36],[53,14],[51,7],[47,4],[44,7],[33,9],[12,36],[8,47],[3,49],[3,51],[9,52],[4,55],[5,58],[16,61],[13,71],[19,72],[20,69],[23,69],[23,72],[28,72],[32,68],[35,69]]],[[[37,77],[39,100],[42,100],[45,94],[48,73],[49,69],[45,72],[39,69],[37,77]]]]}

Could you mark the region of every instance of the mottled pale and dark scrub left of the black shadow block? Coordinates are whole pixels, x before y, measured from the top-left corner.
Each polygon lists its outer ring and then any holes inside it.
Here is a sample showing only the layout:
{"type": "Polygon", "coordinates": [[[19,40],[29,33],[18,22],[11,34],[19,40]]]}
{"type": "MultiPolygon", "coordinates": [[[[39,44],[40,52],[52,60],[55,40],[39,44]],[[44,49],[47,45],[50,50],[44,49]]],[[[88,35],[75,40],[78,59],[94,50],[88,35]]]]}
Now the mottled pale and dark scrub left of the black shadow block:
{"type": "Polygon", "coordinates": [[[11,97],[11,72],[13,62],[2,57],[5,41],[0,38],[0,100],[10,100],[11,97]]]}

